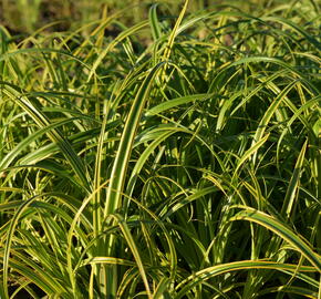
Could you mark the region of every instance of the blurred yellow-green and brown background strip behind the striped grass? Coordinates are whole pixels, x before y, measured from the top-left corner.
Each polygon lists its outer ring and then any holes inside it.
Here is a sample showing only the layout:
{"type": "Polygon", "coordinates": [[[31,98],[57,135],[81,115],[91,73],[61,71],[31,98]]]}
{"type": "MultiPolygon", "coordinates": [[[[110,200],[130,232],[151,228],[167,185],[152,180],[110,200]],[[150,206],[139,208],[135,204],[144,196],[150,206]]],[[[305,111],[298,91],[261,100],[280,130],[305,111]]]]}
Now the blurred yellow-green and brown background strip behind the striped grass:
{"type": "MultiPolygon", "coordinates": [[[[107,14],[125,9],[122,23],[131,25],[146,19],[148,7],[159,2],[159,11],[177,16],[184,0],[0,0],[0,23],[11,33],[31,33],[37,29],[59,21],[48,31],[73,30],[81,24],[96,20],[106,9],[107,14]],[[133,7],[132,7],[133,6],[133,7]]],[[[208,7],[235,6],[240,10],[261,14],[267,8],[280,4],[282,0],[190,0],[189,12],[208,7]]]]}

